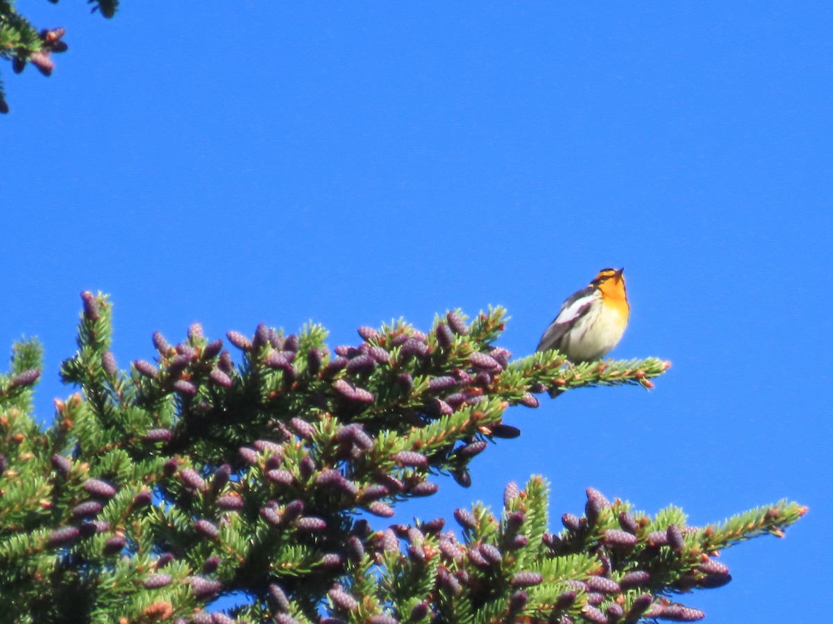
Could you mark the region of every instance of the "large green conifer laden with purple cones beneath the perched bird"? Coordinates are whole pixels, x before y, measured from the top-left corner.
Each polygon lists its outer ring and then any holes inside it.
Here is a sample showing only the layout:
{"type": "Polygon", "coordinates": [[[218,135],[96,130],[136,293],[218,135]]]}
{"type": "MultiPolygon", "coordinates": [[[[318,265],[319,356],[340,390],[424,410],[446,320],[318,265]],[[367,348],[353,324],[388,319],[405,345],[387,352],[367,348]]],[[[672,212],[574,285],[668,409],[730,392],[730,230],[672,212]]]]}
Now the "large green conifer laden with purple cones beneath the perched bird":
{"type": "Polygon", "coordinates": [[[650,388],[668,363],[511,360],[496,308],[426,333],[361,327],[332,350],[318,325],[230,331],[229,349],[192,325],[174,345],[155,333],[155,357],[122,370],[112,305],[82,300],[61,370],[77,392],[51,425],[32,411],[37,341],[0,379],[2,621],[696,621],[677,595],[730,581],[719,552],[806,511],[781,501],[688,526],[675,507],[649,516],[589,489],[556,531],[533,476],[506,486],[501,511],[462,505],[456,530],[407,522],[409,499],[446,475],[469,485],[471,458],[518,435],[511,406],[553,386],[650,388]]]}

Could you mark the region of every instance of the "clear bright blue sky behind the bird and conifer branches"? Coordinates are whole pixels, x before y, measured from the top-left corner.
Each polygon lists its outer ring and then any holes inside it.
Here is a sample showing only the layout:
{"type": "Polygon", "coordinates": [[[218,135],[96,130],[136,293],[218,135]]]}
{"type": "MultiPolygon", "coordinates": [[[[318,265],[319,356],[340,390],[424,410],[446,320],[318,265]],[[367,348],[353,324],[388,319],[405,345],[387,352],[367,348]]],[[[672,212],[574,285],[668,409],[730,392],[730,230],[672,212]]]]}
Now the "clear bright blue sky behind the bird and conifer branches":
{"type": "Polygon", "coordinates": [[[38,409],[70,391],[82,289],[115,301],[122,366],[202,321],[359,325],[502,304],[528,355],[561,301],[625,266],[614,352],[656,390],[579,390],[398,516],[506,481],[587,486],[718,521],[788,497],[786,540],[736,546],[706,621],[822,621],[829,586],[830,3],[21,2],[67,28],[52,78],[2,66],[0,340],[38,335],[38,409]],[[798,588],[801,588],[799,590],[798,588]],[[799,591],[798,594],[792,593],[799,591]]]}

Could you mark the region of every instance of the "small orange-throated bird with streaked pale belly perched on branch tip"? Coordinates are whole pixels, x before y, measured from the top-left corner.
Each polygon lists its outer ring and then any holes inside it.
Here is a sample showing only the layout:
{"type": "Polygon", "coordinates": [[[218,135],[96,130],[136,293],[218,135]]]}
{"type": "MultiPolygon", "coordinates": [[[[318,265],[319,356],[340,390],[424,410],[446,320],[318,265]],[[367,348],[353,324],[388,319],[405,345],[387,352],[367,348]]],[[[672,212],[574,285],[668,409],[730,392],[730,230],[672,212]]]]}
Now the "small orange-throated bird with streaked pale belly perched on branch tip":
{"type": "Polygon", "coordinates": [[[573,364],[601,360],[610,353],[624,335],[631,315],[624,272],[601,269],[586,288],[568,297],[536,351],[559,350],[573,364]]]}

